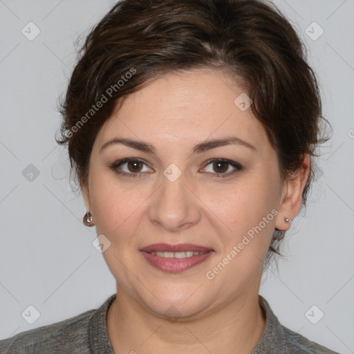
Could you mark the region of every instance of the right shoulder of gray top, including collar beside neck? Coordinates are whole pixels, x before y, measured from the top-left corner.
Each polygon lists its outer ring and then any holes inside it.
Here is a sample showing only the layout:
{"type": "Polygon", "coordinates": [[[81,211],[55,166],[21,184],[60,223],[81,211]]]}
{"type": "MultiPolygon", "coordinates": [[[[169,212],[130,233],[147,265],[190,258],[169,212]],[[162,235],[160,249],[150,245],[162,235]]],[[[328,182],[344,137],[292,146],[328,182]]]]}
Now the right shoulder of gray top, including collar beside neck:
{"type": "Polygon", "coordinates": [[[265,314],[265,328],[252,354],[339,354],[280,324],[261,295],[259,304],[265,314]]]}

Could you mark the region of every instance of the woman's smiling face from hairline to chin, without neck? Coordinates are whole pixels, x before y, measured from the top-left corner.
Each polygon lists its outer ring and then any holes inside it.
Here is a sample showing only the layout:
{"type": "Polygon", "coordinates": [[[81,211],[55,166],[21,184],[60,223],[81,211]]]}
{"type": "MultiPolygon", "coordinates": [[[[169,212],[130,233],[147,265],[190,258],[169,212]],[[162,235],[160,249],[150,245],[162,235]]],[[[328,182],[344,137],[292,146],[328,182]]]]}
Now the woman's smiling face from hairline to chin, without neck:
{"type": "Polygon", "coordinates": [[[129,95],[95,139],[84,198],[110,242],[104,259],[120,296],[157,315],[174,306],[198,316],[258,294],[284,226],[277,154],[242,92],[220,71],[170,73],[129,95]],[[234,143],[205,144],[225,138],[234,143]],[[138,161],[118,166],[125,158],[138,161]]]}

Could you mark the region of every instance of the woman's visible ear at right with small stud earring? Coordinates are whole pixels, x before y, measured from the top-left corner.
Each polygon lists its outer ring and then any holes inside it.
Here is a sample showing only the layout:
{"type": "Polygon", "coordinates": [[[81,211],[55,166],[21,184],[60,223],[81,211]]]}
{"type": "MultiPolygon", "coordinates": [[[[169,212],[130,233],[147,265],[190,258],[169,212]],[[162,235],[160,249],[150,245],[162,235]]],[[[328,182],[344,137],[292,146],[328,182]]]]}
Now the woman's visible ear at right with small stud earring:
{"type": "Polygon", "coordinates": [[[275,227],[278,230],[286,231],[290,227],[284,221],[284,218],[293,220],[301,209],[302,192],[310,176],[311,161],[308,154],[304,155],[302,165],[299,169],[284,181],[283,192],[279,205],[279,214],[275,221],[275,227]]]}

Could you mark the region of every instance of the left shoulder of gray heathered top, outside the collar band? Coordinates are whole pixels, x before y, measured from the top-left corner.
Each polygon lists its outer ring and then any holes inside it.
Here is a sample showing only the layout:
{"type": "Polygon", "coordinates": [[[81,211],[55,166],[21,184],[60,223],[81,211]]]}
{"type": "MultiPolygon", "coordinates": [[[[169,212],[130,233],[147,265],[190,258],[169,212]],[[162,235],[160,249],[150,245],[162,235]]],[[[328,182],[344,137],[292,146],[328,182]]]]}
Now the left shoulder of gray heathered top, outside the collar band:
{"type": "Polygon", "coordinates": [[[88,310],[64,321],[3,339],[0,353],[89,353],[88,322],[95,311],[88,310]]]}

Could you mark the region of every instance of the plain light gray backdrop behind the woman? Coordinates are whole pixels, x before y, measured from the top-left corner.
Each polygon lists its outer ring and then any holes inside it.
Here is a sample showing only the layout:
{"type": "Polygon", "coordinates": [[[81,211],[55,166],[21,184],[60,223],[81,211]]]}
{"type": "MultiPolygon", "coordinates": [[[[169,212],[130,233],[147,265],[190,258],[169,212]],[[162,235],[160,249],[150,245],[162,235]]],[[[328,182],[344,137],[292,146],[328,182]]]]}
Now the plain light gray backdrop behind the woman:
{"type": "MultiPolygon", "coordinates": [[[[306,41],[333,139],[317,162],[306,213],[287,235],[286,257],[279,272],[268,271],[261,294],[285,326],[354,353],[354,0],[274,2],[306,41]],[[313,21],[324,29],[316,41],[306,35],[313,21]],[[317,324],[305,316],[313,305],[324,313],[317,324]]],[[[0,339],[97,308],[115,292],[92,245],[95,228],[82,225],[86,210],[71,192],[66,151],[54,140],[74,41],[113,3],[0,0],[0,339]],[[21,33],[30,21],[41,30],[32,41],[21,33]],[[32,181],[22,174],[29,164],[39,170],[32,181]],[[41,314],[34,324],[21,317],[29,305],[41,314]]]]}

